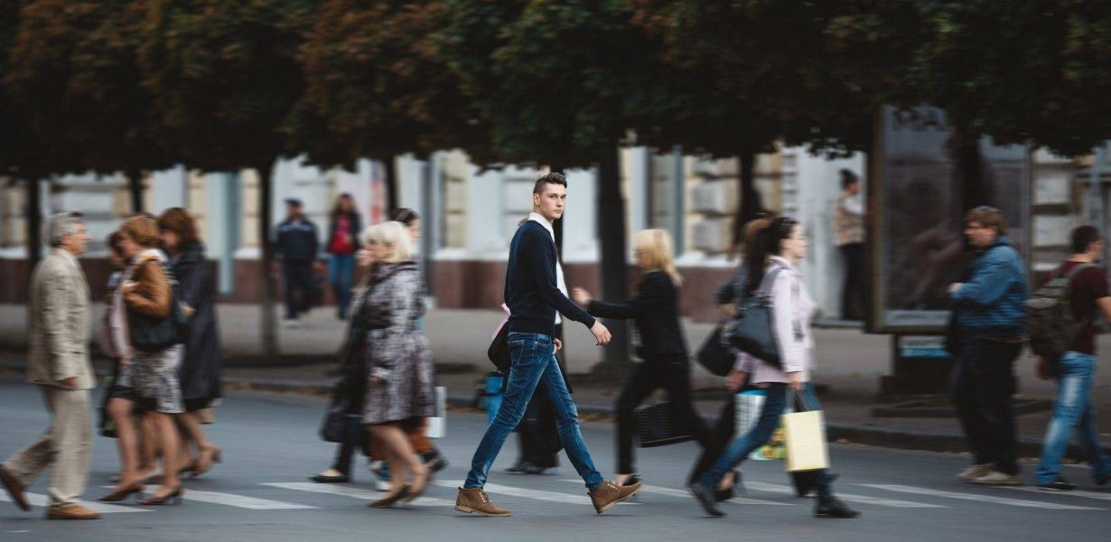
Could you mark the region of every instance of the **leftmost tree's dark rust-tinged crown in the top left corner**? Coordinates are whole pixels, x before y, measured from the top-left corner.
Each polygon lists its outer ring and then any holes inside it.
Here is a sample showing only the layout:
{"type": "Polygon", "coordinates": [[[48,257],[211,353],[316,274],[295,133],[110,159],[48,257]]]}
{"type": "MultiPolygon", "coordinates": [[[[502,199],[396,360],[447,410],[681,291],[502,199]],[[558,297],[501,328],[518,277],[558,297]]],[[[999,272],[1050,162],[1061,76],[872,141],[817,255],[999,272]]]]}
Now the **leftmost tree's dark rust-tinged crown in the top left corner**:
{"type": "Polygon", "coordinates": [[[126,172],[134,212],[142,211],[142,172],[173,164],[140,86],[141,17],[132,0],[31,2],[4,78],[37,140],[69,157],[73,172],[126,172]]]}

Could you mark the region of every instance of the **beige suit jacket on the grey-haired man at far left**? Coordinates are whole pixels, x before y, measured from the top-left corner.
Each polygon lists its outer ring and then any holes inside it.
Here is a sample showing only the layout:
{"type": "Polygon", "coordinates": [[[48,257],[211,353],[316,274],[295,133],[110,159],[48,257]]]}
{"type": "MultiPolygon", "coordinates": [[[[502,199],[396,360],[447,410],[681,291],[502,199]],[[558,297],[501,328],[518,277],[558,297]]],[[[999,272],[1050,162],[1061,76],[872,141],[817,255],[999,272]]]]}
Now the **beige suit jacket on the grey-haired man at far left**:
{"type": "Polygon", "coordinates": [[[62,387],[77,377],[77,389],[92,389],[89,284],[69,252],[52,249],[34,268],[28,323],[28,380],[62,387]]]}

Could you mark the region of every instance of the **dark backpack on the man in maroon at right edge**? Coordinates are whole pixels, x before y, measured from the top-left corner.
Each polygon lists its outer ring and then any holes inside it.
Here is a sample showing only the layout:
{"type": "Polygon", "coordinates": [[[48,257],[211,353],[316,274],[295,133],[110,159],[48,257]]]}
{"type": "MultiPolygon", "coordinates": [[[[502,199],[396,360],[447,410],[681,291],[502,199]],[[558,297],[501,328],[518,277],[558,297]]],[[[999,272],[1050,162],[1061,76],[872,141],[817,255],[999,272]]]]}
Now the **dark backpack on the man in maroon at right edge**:
{"type": "Polygon", "coordinates": [[[1072,280],[1082,271],[1094,268],[1082,263],[1068,273],[1058,270],[1044,285],[1027,300],[1027,335],[1030,349],[1045,361],[1054,362],[1069,350],[1080,329],[1088,322],[1072,318],[1072,280]]]}

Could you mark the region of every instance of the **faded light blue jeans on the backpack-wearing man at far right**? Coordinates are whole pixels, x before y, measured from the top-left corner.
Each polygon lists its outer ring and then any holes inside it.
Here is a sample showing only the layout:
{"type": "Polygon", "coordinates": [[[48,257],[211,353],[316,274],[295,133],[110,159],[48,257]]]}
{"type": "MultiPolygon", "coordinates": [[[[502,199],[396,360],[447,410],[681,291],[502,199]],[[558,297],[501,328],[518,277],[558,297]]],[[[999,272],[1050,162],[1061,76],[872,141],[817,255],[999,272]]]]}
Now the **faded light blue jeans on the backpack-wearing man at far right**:
{"type": "Polygon", "coordinates": [[[1053,401],[1053,418],[1045,430],[1042,456],[1034,475],[1038,483],[1051,483],[1061,472],[1061,458],[1069,448],[1072,430],[1080,431],[1080,444],[1092,464],[1092,478],[1111,472],[1111,460],[1102,452],[1100,433],[1095,429],[1095,404],[1092,403],[1092,379],[1095,357],[1065,352],[1058,362],[1060,389],[1053,401]]]}

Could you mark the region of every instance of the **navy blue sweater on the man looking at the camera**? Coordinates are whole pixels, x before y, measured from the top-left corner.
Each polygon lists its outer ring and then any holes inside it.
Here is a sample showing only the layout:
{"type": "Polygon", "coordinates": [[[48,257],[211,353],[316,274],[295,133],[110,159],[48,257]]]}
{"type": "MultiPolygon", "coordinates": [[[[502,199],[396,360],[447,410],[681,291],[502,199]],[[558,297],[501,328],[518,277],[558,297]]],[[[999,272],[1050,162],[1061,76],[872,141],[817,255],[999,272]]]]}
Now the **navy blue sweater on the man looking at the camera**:
{"type": "Polygon", "coordinates": [[[587,328],[594,325],[594,317],[559,291],[556,243],[543,225],[531,220],[517,229],[509,245],[506,304],[510,332],[554,335],[557,310],[587,328]]]}

